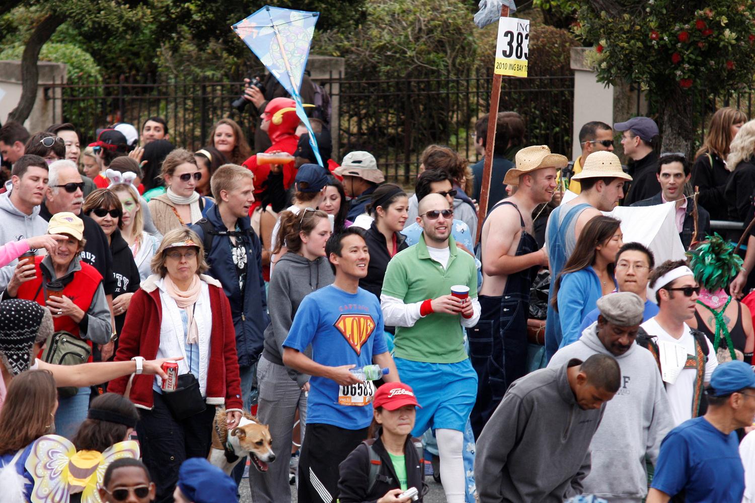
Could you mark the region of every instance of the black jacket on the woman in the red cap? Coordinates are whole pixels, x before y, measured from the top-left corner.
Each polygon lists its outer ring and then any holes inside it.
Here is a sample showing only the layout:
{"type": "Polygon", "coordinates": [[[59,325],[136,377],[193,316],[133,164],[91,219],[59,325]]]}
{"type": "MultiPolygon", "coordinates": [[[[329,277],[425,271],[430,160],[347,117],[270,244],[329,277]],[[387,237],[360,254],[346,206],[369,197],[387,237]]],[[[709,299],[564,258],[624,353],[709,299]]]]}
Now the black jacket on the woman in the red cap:
{"type": "MultiPolygon", "coordinates": [[[[398,477],[393,469],[393,462],[380,440],[382,428],[378,428],[374,439],[365,440],[356,447],[347,459],[338,465],[340,477],[338,479],[338,498],[341,503],[375,503],[391,489],[399,489],[398,477]],[[377,473],[377,481],[372,490],[367,493],[370,476],[370,453],[368,443],[372,443],[373,449],[380,456],[381,467],[377,473]]],[[[424,462],[418,458],[414,442],[420,440],[412,437],[406,438],[404,455],[406,461],[406,487],[415,487],[419,492],[419,500],[422,501],[425,491],[424,462]]]]}

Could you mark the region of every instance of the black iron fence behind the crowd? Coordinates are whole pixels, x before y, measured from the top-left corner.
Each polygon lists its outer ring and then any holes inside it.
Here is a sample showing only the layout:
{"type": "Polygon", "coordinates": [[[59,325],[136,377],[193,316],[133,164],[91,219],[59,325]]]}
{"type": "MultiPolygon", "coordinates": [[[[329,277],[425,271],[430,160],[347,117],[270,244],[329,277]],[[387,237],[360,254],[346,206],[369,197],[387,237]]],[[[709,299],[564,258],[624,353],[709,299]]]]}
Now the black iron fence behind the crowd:
{"type": "MultiPolygon", "coordinates": [[[[319,83],[333,104],[333,158],[352,150],[373,153],[387,178],[409,183],[418,170],[425,146],[441,143],[470,161],[479,157],[470,133],[476,119],[488,112],[491,72],[440,74],[432,78],[370,78],[330,75],[319,83]]],[[[188,82],[165,77],[119,78],[84,84],[54,83],[48,93],[62,110],[62,120],[79,127],[82,143],[94,131],[116,121],[140,127],[151,115],[168,120],[171,141],[186,149],[207,144],[208,131],[220,118],[233,118],[253,144],[257,117],[254,107],[237,112],[230,106],[242,82],[188,82]]],[[[546,144],[571,155],[574,77],[504,78],[501,110],[525,118],[526,141],[546,144]]]]}

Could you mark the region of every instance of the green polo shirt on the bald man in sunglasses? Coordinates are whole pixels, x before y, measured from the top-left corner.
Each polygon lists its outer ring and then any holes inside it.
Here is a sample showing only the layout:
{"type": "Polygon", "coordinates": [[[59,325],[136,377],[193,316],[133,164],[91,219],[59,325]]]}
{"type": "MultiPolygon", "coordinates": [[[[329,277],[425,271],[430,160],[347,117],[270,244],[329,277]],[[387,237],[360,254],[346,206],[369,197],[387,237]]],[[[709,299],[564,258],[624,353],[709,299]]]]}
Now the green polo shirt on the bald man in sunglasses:
{"type": "MultiPolygon", "coordinates": [[[[474,258],[456,247],[448,238],[450,256],[443,266],[430,258],[424,233],[418,244],[393,256],[383,281],[387,296],[405,304],[436,299],[451,293],[454,285],[467,285],[470,298],[477,296],[477,269],[474,258]]],[[[395,356],[427,363],[458,363],[467,359],[461,314],[431,313],[421,317],[414,327],[396,327],[395,356]]]]}

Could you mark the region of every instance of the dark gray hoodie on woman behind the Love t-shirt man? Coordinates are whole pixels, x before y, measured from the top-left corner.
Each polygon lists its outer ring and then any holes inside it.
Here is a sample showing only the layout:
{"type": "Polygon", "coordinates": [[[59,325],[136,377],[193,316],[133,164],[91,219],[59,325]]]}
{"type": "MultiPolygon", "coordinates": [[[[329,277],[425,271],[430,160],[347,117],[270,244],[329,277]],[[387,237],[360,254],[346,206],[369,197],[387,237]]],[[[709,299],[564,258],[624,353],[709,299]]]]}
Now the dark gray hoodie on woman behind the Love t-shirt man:
{"type": "MultiPolygon", "coordinates": [[[[262,356],[265,360],[283,365],[283,341],[294,321],[294,314],[305,296],[327,287],[333,283],[335,276],[330,262],[324,256],[315,260],[305,259],[296,253],[285,253],[270,275],[270,289],[267,292],[267,310],[270,313],[270,325],[265,329],[265,342],[262,356]]],[[[311,348],[307,354],[311,354],[311,348]]],[[[310,376],[286,368],[291,379],[296,379],[300,386],[310,376]]]]}

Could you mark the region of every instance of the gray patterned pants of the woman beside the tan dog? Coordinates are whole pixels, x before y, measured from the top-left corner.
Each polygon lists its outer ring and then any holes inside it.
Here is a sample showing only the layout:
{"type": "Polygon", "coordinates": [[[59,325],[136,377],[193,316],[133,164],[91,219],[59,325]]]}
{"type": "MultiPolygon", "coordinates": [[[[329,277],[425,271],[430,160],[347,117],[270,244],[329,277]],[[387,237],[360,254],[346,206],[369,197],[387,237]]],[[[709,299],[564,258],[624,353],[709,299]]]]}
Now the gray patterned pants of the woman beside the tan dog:
{"type": "Polygon", "coordinates": [[[267,472],[249,470],[251,501],[254,503],[285,503],[291,501],[288,484],[288,464],[291,461],[291,431],[294,429],[296,409],[299,409],[301,439],[304,440],[304,422],[307,419],[307,395],[296,381],[288,376],[282,365],[260,357],[257,363],[257,389],[260,401],[257,419],[270,428],[276,460],[268,465],[267,472]]]}

